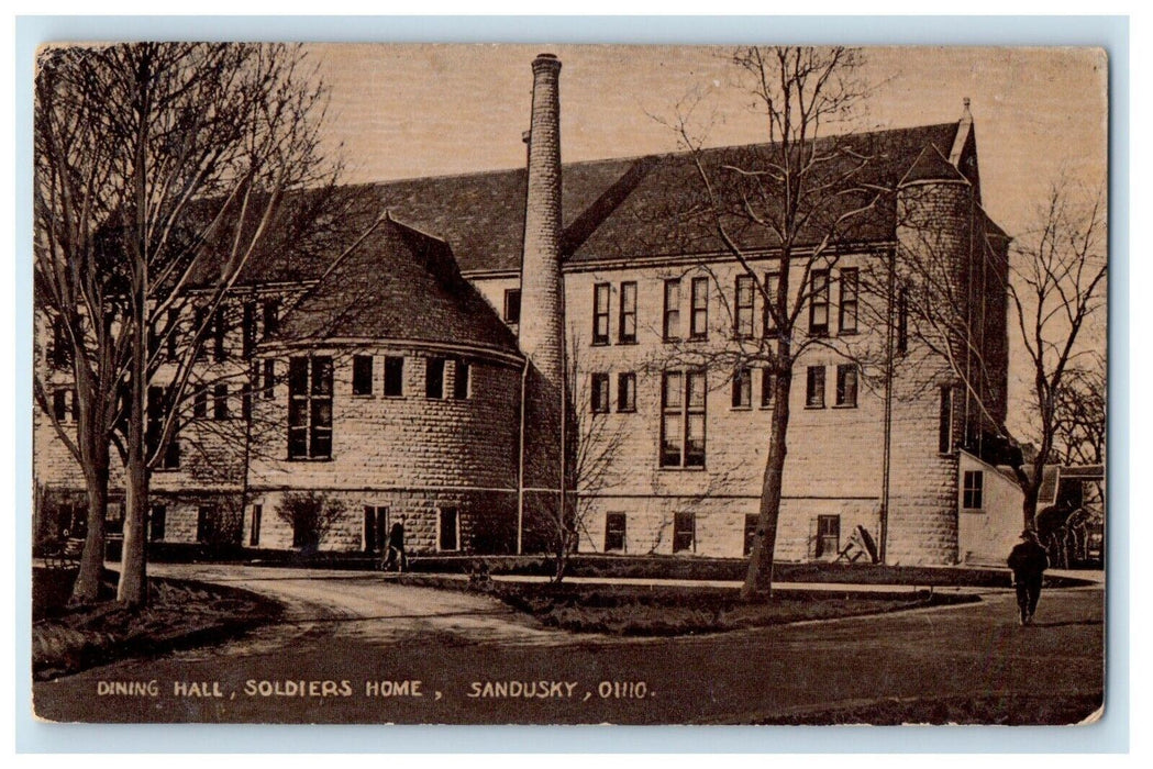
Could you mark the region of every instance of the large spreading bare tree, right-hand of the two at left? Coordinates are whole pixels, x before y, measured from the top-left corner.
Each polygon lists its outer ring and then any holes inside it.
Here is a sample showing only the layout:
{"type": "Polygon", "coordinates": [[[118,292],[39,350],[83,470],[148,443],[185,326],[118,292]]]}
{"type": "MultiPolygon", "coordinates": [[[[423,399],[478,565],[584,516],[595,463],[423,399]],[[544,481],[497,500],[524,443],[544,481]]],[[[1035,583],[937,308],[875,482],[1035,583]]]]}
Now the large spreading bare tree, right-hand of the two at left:
{"type": "Polygon", "coordinates": [[[318,152],[324,90],[299,46],[142,43],[67,53],[60,68],[70,88],[56,91],[67,96],[59,107],[92,126],[68,153],[107,158],[107,172],[85,181],[93,204],[76,216],[100,217],[86,227],[103,233],[121,281],[122,312],[110,323],[118,349],[127,348],[118,385],[127,414],[118,598],[138,605],[149,475],[175,435],[176,405],[190,392],[213,318],[286,195],[330,183],[334,168],[318,152]],[[190,306],[203,311],[186,314],[190,306]],[[167,362],[171,377],[150,409],[150,341],[164,347],[176,333],[188,341],[167,362]]]}

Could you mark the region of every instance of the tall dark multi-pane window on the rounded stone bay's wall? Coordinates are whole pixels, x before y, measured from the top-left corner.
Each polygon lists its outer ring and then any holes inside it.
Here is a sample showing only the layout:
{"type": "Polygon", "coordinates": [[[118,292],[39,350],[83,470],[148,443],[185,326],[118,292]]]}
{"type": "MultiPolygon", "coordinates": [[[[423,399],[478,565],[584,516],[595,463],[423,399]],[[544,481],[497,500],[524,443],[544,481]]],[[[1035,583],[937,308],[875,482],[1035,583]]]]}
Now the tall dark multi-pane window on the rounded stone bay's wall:
{"type": "Polygon", "coordinates": [[[288,459],[332,457],[332,359],[288,359],[288,459]]]}

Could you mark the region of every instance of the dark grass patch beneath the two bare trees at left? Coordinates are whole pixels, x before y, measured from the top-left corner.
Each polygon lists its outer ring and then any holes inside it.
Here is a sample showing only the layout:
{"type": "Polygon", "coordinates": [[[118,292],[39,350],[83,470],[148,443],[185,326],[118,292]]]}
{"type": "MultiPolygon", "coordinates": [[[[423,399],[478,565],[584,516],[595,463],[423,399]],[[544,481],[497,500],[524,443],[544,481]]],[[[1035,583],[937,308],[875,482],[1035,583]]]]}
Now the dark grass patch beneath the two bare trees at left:
{"type": "Polygon", "coordinates": [[[278,604],[244,590],[152,579],[151,601],[129,610],[112,598],[107,572],[101,602],[67,605],[76,572],[32,572],[32,674],[36,680],[75,673],[115,659],[203,646],[279,616],[278,604]]]}

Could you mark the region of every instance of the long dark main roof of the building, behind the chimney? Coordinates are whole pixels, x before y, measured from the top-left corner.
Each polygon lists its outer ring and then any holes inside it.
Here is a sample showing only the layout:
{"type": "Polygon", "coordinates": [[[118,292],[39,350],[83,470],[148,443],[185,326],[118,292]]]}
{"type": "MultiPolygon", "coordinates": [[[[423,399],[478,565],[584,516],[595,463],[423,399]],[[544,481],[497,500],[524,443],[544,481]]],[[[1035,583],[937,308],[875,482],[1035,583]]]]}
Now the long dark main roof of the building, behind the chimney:
{"type": "MultiPolygon", "coordinates": [[[[798,246],[816,242],[830,228],[851,242],[892,240],[895,201],[886,190],[896,189],[902,180],[922,176],[964,179],[944,159],[956,134],[954,122],[820,140],[815,150],[824,158],[820,164],[823,173],[850,183],[827,198],[820,210],[807,212],[809,227],[798,246]],[[859,208],[867,211],[844,216],[859,208]]],[[[745,249],[777,247],[771,231],[751,224],[741,211],[741,196],[756,193],[756,178],[743,172],[763,169],[776,159],[776,149],[773,144],[747,144],[707,149],[700,154],[716,188],[724,190],[721,205],[726,229],[745,249]]],[[[513,168],[297,194],[286,201],[279,217],[288,226],[270,228],[277,234],[254,255],[239,282],[315,280],[382,210],[445,241],[466,274],[519,272],[526,184],[525,168],[513,168]],[[321,211],[314,212],[314,208],[321,211]],[[300,216],[301,211],[306,216],[300,216]],[[297,220],[321,220],[330,229],[321,238],[304,228],[294,233],[291,225],[297,220]]],[[[770,211],[773,205],[776,203],[770,202],[770,211]]],[[[704,214],[706,196],[689,152],[565,164],[562,209],[562,251],[570,264],[724,250],[715,223],[704,214]]]]}

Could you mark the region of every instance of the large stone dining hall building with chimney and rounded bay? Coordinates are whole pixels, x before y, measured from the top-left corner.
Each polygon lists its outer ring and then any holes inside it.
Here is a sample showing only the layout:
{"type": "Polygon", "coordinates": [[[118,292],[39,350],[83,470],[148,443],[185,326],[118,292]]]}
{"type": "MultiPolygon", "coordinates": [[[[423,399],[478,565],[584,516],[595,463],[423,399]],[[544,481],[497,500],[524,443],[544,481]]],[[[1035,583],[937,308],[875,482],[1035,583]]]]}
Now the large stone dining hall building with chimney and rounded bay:
{"type": "MultiPolygon", "coordinates": [[[[562,164],[560,62],[542,54],[533,74],[525,168],[356,188],[387,216],[359,218],[354,247],[292,280],[254,276],[246,291],[284,311],[247,350],[244,437],[211,462],[235,469],[201,485],[180,460],[157,473],[155,538],[204,540],[219,505],[251,548],[372,551],[400,521],[419,551],[536,550],[559,514],[582,551],[747,552],[771,378],[684,350],[722,361],[741,337],[771,336],[763,302],[715,228],[686,216],[700,195],[689,154],[562,164]],[[302,492],[334,504],[318,542],[277,514],[302,492]]],[[[777,555],[834,558],[862,527],[889,563],[956,563],[979,412],[943,363],[896,365],[877,385],[851,353],[872,345],[884,368],[914,344],[892,296],[866,311],[865,276],[897,254],[943,259],[988,370],[982,401],[1003,413],[1008,238],[981,208],[967,105],[958,122],[844,142],[869,158],[856,181],[891,194],[838,231],[828,270],[791,271],[821,281],[798,330],[827,344],[793,370],[777,555]]],[[[719,173],[763,149],[701,158],[719,173]]],[[[769,279],[773,243],[739,236],[769,279]]],[[[244,302],[243,318],[264,317],[244,302]]],[[[36,429],[39,487],[82,489],[43,415],[36,429]]]]}

